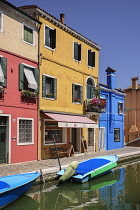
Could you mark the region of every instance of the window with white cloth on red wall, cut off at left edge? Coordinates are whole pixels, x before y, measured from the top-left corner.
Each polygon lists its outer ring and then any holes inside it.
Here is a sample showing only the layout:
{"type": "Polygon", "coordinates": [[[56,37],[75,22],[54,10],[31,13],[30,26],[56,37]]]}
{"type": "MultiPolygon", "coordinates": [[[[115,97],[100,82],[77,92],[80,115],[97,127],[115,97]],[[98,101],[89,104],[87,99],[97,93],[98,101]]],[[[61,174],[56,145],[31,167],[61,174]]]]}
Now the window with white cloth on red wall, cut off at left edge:
{"type": "Polygon", "coordinates": [[[0,57],[0,86],[7,85],[7,59],[0,57]]]}

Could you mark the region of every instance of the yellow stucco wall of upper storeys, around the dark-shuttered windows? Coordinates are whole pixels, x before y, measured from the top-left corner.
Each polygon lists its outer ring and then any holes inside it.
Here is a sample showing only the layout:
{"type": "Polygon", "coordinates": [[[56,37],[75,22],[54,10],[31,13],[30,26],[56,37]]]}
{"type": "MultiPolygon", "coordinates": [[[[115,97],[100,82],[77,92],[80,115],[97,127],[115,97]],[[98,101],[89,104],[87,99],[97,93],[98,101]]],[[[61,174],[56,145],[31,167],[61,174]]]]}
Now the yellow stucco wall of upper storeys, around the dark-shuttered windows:
{"type": "MultiPolygon", "coordinates": [[[[40,90],[40,109],[60,112],[70,112],[83,114],[83,104],[72,103],[72,83],[83,86],[83,100],[86,99],[86,80],[88,76],[93,76],[95,84],[98,83],[98,58],[99,52],[91,48],[84,42],[79,41],[72,35],[54,26],[50,22],[40,19],[43,23],[41,28],[40,52],[41,75],[48,74],[57,79],[57,99],[48,100],[42,98],[42,89],[40,90]],[[44,25],[56,30],[56,49],[52,51],[44,46],[44,25]],[[81,44],[81,61],[76,62],[73,59],[73,41],[81,44]],[[95,68],[87,66],[88,49],[95,51],[95,68]]],[[[42,87],[42,77],[40,77],[40,86],[42,87]]]]}

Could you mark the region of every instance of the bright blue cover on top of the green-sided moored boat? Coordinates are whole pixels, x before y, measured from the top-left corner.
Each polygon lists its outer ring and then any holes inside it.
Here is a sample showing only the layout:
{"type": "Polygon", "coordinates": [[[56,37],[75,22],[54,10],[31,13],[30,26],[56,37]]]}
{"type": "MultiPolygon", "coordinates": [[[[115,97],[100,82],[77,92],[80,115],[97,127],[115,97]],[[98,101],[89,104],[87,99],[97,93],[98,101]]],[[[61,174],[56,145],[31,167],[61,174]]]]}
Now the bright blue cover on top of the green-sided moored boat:
{"type": "Polygon", "coordinates": [[[95,170],[109,162],[110,162],[110,160],[106,160],[106,159],[98,158],[98,161],[96,159],[91,159],[91,160],[79,163],[78,168],[76,169],[75,173],[76,173],[76,175],[84,175],[84,174],[86,174],[92,170],[95,170]]]}

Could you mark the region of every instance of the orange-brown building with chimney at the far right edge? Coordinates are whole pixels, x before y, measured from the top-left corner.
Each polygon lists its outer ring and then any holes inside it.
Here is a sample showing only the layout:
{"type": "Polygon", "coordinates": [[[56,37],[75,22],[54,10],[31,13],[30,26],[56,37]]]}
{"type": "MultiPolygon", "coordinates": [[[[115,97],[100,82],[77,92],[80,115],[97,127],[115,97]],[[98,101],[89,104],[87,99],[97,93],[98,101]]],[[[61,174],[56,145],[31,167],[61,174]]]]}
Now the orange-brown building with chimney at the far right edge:
{"type": "Polygon", "coordinates": [[[133,77],[132,85],[124,91],[125,96],[125,141],[140,137],[140,85],[138,77],[133,77]]]}

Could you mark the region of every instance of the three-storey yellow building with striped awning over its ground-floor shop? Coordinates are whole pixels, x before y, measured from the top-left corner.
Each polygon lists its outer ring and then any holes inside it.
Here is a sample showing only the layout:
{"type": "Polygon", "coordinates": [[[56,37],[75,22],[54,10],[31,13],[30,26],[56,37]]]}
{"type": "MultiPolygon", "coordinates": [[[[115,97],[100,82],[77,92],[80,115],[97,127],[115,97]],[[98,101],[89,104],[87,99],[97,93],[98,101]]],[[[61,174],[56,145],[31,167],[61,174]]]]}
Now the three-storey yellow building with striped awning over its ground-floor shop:
{"type": "Polygon", "coordinates": [[[98,85],[100,47],[64,24],[64,14],[58,20],[37,6],[21,9],[42,22],[38,158],[51,157],[54,138],[57,146],[66,149],[70,144],[75,152],[83,152],[82,140],[90,139],[96,151],[97,119],[85,116],[85,100],[93,98],[98,85]]]}

